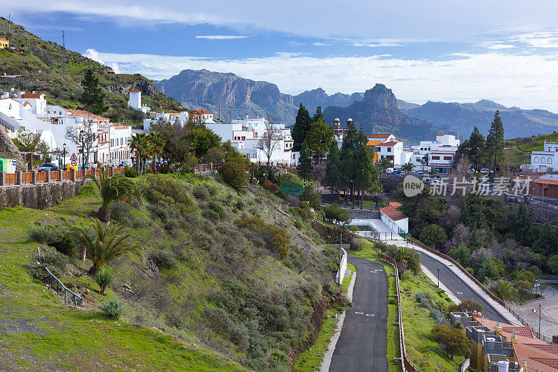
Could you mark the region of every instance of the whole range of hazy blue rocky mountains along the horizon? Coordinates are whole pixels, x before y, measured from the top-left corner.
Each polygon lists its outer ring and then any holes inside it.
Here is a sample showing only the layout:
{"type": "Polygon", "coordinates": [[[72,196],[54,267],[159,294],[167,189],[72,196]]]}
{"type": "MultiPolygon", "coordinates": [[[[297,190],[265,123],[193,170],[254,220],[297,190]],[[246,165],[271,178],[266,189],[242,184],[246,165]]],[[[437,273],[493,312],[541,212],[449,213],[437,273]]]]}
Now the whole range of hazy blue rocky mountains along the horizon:
{"type": "Polygon", "coordinates": [[[428,101],[418,105],[396,99],[391,89],[382,84],[377,85],[374,92],[374,88],[369,89],[368,96],[366,92],[328,95],[322,88],[292,96],[281,93],[271,82],[250,80],[233,73],[183,70],[169,79],[156,81],[156,86],[181,101],[184,107],[220,113],[225,120],[248,113],[269,115],[276,121],[293,124],[302,103],[310,114],[321,106],[328,122],[335,117],[341,121],[352,117],[365,131],[393,131],[409,140],[418,138],[418,135],[426,139],[425,134],[421,135],[424,128],[432,133],[455,132],[469,137],[473,128],[478,126],[487,134],[496,110],[504,121],[506,138],[550,133],[558,128],[558,114],[547,110],[522,110],[486,99],[475,103],[428,101]],[[380,96],[386,101],[378,101],[380,96]],[[410,132],[406,133],[407,130],[410,132]]]}

